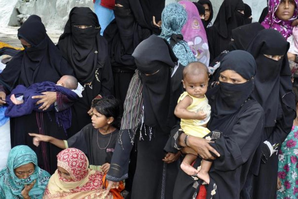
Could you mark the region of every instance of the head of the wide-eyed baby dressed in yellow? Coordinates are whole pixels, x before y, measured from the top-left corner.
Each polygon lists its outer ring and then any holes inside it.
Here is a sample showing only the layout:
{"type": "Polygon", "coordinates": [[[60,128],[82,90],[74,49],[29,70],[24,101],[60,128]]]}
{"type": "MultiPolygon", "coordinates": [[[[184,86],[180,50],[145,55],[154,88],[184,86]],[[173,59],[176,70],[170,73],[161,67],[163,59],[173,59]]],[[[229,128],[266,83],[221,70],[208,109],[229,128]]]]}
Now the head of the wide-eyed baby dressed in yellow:
{"type": "Polygon", "coordinates": [[[201,62],[192,62],[183,69],[183,87],[193,97],[204,98],[208,81],[208,69],[201,62]]]}

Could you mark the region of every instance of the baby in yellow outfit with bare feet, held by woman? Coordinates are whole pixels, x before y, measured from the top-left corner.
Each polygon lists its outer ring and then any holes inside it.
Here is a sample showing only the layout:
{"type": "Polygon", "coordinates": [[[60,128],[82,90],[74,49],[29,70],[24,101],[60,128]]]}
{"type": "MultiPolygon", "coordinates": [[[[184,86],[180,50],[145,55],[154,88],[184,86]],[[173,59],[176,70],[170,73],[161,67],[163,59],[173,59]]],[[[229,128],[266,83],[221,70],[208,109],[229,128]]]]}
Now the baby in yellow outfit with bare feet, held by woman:
{"type": "MultiPolygon", "coordinates": [[[[205,96],[209,81],[208,69],[200,62],[188,64],[183,70],[183,92],[178,99],[175,115],[181,118],[181,129],[187,135],[203,138],[210,131],[207,123],[210,120],[211,107],[205,96]]],[[[191,163],[196,155],[187,154],[181,163],[181,169],[188,175],[197,175],[198,178],[209,183],[209,169],[212,162],[203,160],[201,169],[195,169],[191,163]]]]}

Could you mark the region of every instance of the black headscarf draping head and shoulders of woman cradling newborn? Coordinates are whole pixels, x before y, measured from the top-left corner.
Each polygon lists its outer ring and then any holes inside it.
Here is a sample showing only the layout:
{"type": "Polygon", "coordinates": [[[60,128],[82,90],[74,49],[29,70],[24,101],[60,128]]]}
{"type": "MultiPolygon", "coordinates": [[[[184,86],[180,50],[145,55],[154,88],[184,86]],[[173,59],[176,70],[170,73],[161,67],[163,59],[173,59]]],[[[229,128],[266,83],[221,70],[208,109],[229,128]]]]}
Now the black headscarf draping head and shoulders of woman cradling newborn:
{"type": "Polygon", "coordinates": [[[46,34],[44,24],[37,15],[31,15],[18,29],[18,38],[31,47],[16,54],[0,75],[0,82],[11,91],[17,84],[26,87],[42,81],[57,82],[73,70],[59,49],[46,34]]]}

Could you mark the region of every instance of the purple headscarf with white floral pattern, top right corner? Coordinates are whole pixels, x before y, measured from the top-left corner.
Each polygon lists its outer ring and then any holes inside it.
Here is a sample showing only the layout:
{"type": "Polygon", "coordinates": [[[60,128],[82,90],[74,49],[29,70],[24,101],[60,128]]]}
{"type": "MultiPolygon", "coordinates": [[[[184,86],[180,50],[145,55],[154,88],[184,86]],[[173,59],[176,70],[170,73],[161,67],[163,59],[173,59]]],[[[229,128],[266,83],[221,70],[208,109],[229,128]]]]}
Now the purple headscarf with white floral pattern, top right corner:
{"type": "Polygon", "coordinates": [[[294,0],[296,3],[294,14],[292,18],[287,21],[280,20],[279,18],[277,18],[277,16],[275,16],[275,12],[280,4],[280,1],[281,0],[268,1],[268,14],[265,20],[262,22],[262,25],[266,29],[274,29],[279,31],[283,35],[283,37],[287,39],[289,36],[292,35],[293,32],[293,27],[291,26],[291,24],[298,16],[298,0],[294,0]]]}

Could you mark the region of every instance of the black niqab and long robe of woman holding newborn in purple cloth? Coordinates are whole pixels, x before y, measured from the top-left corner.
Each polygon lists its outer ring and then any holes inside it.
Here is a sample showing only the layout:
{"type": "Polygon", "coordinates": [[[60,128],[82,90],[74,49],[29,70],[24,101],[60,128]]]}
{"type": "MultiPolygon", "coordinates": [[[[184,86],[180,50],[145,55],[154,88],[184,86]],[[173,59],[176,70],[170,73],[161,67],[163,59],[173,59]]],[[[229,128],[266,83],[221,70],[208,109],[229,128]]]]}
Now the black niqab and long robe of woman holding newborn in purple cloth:
{"type": "MultiPolygon", "coordinates": [[[[0,90],[2,92],[9,94],[18,84],[28,87],[43,81],[56,83],[63,75],[74,75],[72,67],[46,34],[46,29],[39,16],[32,15],[22,24],[18,29],[18,38],[27,41],[31,47],[24,46],[25,49],[16,54],[0,74],[0,90]]],[[[44,96],[47,97],[48,94],[44,96]]],[[[56,96],[58,110],[64,110],[61,107],[61,102],[67,101],[67,98],[63,96],[61,99],[59,92],[56,92],[54,96],[56,96]]],[[[12,147],[30,146],[37,154],[38,165],[53,173],[57,169],[56,155],[61,149],[47,143],[36,148],[32,143],[32,137],[28,135],[29,132],[66,139],[63,127],[56,123],[55,112],[33,111],[30,115],[10,118],[12,147]]]]}

